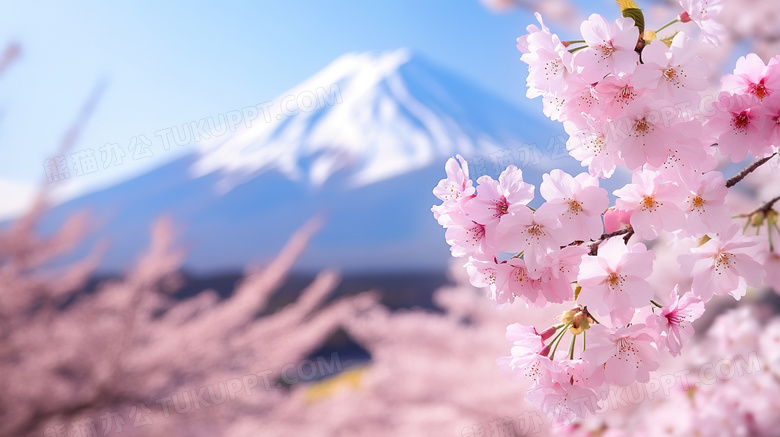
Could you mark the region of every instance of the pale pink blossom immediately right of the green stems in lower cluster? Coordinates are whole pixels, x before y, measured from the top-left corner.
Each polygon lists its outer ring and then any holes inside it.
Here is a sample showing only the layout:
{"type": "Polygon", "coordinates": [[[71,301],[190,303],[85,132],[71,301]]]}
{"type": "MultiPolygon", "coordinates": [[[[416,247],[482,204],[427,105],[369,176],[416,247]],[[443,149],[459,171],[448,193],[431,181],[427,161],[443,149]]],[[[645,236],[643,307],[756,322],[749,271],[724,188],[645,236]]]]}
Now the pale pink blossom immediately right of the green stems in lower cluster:
{"type": "Polygon", "coordinates": [[[588,334],[583,359],[596,366],[603,365],[608,383],[626,386],[634,381],[647,382],[650,372],[660,366],[655,338],[643,323],[616,330],[596,325],[588,334]]]}

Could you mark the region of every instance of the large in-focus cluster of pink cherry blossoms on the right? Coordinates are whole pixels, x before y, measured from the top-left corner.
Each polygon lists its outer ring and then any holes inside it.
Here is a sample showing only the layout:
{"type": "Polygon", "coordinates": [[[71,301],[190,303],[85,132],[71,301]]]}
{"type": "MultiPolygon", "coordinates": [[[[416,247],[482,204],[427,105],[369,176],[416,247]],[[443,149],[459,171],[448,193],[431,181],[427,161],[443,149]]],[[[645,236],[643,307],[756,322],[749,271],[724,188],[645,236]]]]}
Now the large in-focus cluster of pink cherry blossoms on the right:
{"type": "Polygon", "coordinates": [[[697,50],[722,36],[713,20],[719,2],[681,0],[680,15],[657,31],[644,29],[636,4],[618,3],[623,16],[591,15],[581,40],[560,40],[538,14],[541,27],[518,38],[528,97],[543,98],[588,171],[544,174],[544,202],[534,209],[536,187],[515,166],[475,184],[457,156],[433,191],[452,255],[466,259],[471,283],[496,306],[568,303],[550,326],[510,325],[511,356],[499,360],[531,382],[532,403],[564,421],[595,411],[610,384],[647,381],[662,353],[681,353],[707,301],[740,299],[762,285],[764,265],[780,263],[778,199],[741,216],[726,199],[748,173],[777,165],[780,56],[740,58],[710,110],[692,111],[709,83],[697,50]],[[688,27],[664,35],[675,23],[688,27]],[[732,178],[716,169],[748,155],[758,161],[732,178]],[[610,205],[600,179],[618,166],[631,182],[610,205]],[[750,226],[758,235],[745,234],[750,226]],[[653,285],[660,246],[672,248],[676,273],[687,278],[671,289],[653,285]]]}

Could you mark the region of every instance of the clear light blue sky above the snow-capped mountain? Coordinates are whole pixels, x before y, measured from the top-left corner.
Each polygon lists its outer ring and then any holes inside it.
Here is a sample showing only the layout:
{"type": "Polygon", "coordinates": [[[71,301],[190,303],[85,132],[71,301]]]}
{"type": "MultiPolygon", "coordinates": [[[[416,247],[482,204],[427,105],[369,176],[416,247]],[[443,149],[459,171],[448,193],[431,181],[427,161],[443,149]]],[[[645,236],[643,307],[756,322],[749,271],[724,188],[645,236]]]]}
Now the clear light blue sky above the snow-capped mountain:
{"type": "MultiPolygon", "coordinates": [[[[591,0],[587,7],[613,5],[591,0]]],[[[126,147],[137,135],[154,138],[160,129],[271,100],[347,52],[408,47],[528,104],[514,40],[534,19],[526,11],[492,13],[477,0],[27,1],[2,10],[0,43],[18,41],[23,57],[0,78],[0,181],[41,181],[43,161],[101,80],[107,91],[76,150],[126,147]]],[[[105,185],[173,157],[158,154],[77,182],[105,185]]]]}

